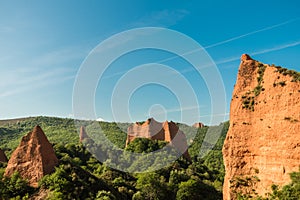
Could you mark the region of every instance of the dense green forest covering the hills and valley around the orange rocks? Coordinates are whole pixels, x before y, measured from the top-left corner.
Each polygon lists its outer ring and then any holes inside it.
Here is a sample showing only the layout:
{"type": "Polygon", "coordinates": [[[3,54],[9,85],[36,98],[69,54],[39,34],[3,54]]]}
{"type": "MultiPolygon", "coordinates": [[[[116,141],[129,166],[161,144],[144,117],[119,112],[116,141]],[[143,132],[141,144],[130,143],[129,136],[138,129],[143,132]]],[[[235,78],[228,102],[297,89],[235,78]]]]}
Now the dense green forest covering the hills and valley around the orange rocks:
{"type": "MultiPolygon", "coordinates": [[[[167,166],[160,166],[161,159],[174,159],[177,152],[161,153],[157,160],[132,161],[125,152],[148,153],[159,150],[166,142],[138,138],[125,148],[126,123],[77,121],[86,127],[91,138],[97,137],[97,127],[100,125],[104,135],[116,148],[107,151],[96,142],[79,142],[79,132],[73,119],[55,117],[30,117],[17,120],[0,121],[0,148],[9,158],[18,146],[21,137],[30,132],[34,126],[40,125],[48,140],[53,144],[59,165],[52,174],[44,176],[37,188],[30,187],[18,173],[12,177],[4,177],[6,163],[0,163],[0,199],[222,199],[224,180],[224,165],[222,146],[229,127],[224,122],[215,127],[193,127],[177,124],[186,134],[191,161],[180,157],[167,166]],[[210,134],[218,135],[215,145],[205,140],[210,128],[210,134]],[[221,131],[220,131],[221,130],[221,131]],[[193,138],[192,140],[190,138],[193,138]],[[94,151],[97,149],[97,152],[94,151]],[[101,150],[99,152],[99,149],[101,150]],[[212,150],[210,150],[212,149],[212,150]],[[119,155],[123,163],[131,170],[145,170],[145,173],[125,173],[108,167],[106,162],[100,162],[98,156],[119,155]],[[145,168],[145,163],[151,162],[159,166],[153,171],[145,168]]],[[[101,138],[100,138],[101,139],[101,138]]],[[[154,169],[153,168],[153,169],[154,169]]],[[[300,196],[300,172],[291,174],[291,184],[279,188],[272,186],[272,194],[268,199],[298,199],[300,196]]],[[[251,180],[250,180],[251,181],[251,180]]],[[[240,180],[238,184],[251,185],[249,180],[240,180]]],[[[263,199],[253,194],[237,194],[239,199],[263,199]]]]}

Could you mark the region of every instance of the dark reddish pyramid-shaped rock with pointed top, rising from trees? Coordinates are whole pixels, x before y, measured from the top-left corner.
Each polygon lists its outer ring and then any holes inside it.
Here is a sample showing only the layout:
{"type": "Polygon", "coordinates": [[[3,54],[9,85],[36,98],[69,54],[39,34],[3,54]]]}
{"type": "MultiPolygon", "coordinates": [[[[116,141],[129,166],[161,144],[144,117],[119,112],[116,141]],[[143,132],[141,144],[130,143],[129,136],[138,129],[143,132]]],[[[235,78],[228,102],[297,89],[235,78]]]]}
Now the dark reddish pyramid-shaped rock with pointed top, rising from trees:
{"type": "Polygon", "coordinates": [[[40,126],[34,127],[32,132],[23,136],[19,146],[12,153],[5,170],[5,176],[19,172],[22,178],[36,187],[38,181],[53,172],[58,159],[53,147],[40,126]]]}

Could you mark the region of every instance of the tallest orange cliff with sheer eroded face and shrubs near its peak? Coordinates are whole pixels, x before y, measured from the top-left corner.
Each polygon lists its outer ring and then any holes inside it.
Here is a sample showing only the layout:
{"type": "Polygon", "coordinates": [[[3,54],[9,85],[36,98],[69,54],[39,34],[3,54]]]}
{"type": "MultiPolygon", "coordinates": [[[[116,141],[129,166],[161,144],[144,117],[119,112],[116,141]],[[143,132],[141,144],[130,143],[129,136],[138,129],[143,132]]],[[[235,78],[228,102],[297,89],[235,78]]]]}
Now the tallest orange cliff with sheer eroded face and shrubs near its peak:
{"type": "Polygon", "coordinates": [[[290,182],[300,166],[300,73],[242,56],[223,157],[225,200],[254,194],[245,180],[262,196],[290,182]]]}

